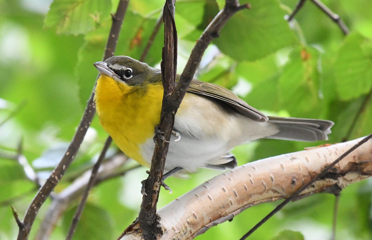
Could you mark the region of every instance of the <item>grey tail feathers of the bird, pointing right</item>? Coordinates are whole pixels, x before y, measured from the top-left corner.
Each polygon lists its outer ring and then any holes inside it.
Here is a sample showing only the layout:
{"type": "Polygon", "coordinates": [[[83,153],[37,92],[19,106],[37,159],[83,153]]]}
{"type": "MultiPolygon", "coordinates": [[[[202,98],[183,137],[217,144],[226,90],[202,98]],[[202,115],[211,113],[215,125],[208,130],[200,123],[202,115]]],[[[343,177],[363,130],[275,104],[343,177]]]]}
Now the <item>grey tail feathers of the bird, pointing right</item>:
{"type": "Polygon", "coordinates": [[[332,121],[306,119],[306,118],[279,118],[269,117],[269,123],[279,127],[279,132],[266,137],[294,141],[319,141],[328,140],[327,134],[331,133],[332,121]]]}

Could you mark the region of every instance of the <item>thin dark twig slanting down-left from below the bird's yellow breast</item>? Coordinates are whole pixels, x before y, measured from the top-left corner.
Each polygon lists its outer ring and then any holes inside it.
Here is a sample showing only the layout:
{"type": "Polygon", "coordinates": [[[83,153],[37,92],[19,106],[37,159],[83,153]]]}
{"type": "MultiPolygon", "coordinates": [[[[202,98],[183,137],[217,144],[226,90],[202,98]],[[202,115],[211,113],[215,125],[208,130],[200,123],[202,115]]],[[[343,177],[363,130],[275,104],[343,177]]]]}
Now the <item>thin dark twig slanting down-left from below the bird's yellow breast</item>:
{"type": "Polygon", "coordinates": [[[106,139],[105,145],[103,146],[103,149],[101,151],[101,154],[100,154],[100,156],[99,156],[96,164],[94,164],[94,166],[92,168],[92,173],[90,174],[89,182],[88,182],[88,184],[87,184],[87,186],[86,186],[86,188],[84,190],[84,193],[82,195],[82,198],[80,200],[80,203],[79,203],[79,205],[78,205],[78,207],[76,209],[75,215],[74,215],[74,217],[73,217],[73,219],[71,221],[71,225],[70,225],[70,228],[68,230],[68,234],[67,234],[66,240],[72,239],[72,236],[75,233],[77,223],[80,220],[81,213],[83,212],[83,209],[84,209],[85,204],[87,202],[89,191],[90,191],[90,189],[92,189],[94,183],[96,182],[96,176],[97,176],[98,169],[99,169],[99,167],[100,167],[103,159],[105,158],[106,152],[109,149],[111,142],[112,142],[112,138],[111,137],[108,137],[106,139]]]}

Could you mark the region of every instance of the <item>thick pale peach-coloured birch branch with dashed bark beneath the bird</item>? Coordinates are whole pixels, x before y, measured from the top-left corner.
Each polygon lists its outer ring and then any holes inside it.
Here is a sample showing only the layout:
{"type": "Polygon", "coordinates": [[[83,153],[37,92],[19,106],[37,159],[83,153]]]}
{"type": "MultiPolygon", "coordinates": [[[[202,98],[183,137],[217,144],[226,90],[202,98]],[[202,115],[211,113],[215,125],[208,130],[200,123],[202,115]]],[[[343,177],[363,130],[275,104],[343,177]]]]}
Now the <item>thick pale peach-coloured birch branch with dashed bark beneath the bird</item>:
{"type": "MultiPolygon", "coordinates": [[[[360,141],[363,138],[270,157],[222,173],[157,212],[161,227],[167,229],[161,239],[192,239],[251,206],[288,198],[360,141]]],[[[371,148],[372,140],[368,140],[296,199],[341,190],[371,177],[371,148]]],[[[141,237],[138,228],[138,224],[132,227],[123,239],[141,237]]]]}

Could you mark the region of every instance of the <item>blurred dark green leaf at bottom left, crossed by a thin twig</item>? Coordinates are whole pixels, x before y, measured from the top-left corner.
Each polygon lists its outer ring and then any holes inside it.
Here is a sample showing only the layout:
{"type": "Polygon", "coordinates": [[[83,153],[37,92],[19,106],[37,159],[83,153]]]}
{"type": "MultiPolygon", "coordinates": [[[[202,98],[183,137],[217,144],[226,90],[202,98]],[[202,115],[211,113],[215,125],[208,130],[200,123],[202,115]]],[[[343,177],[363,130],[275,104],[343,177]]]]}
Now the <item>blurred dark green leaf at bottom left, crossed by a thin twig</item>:
{"type": "MultiPolygon", "coordinates": [[[[76,208],[68,210],[62,220],[62,226],[67,233],[76,208]]],[[[113,239],[113,223],[108,212],[89,202],[84,207],[80,221],[77,224],[74,239],[113,239]]]]}

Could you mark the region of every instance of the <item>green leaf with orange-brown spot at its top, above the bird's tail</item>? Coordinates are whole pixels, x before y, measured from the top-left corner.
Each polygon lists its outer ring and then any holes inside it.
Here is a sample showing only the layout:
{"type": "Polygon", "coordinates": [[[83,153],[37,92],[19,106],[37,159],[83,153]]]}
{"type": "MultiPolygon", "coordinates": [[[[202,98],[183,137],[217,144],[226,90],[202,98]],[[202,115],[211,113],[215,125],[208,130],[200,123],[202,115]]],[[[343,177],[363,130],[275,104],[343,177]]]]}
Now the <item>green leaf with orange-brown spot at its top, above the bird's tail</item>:
{"type": "Polygon", "coordinates": [[[291,116],[316,118],[321,113],[318,55],[315,48],[294,49],[279,77],[279,99],[291,116]]]}

